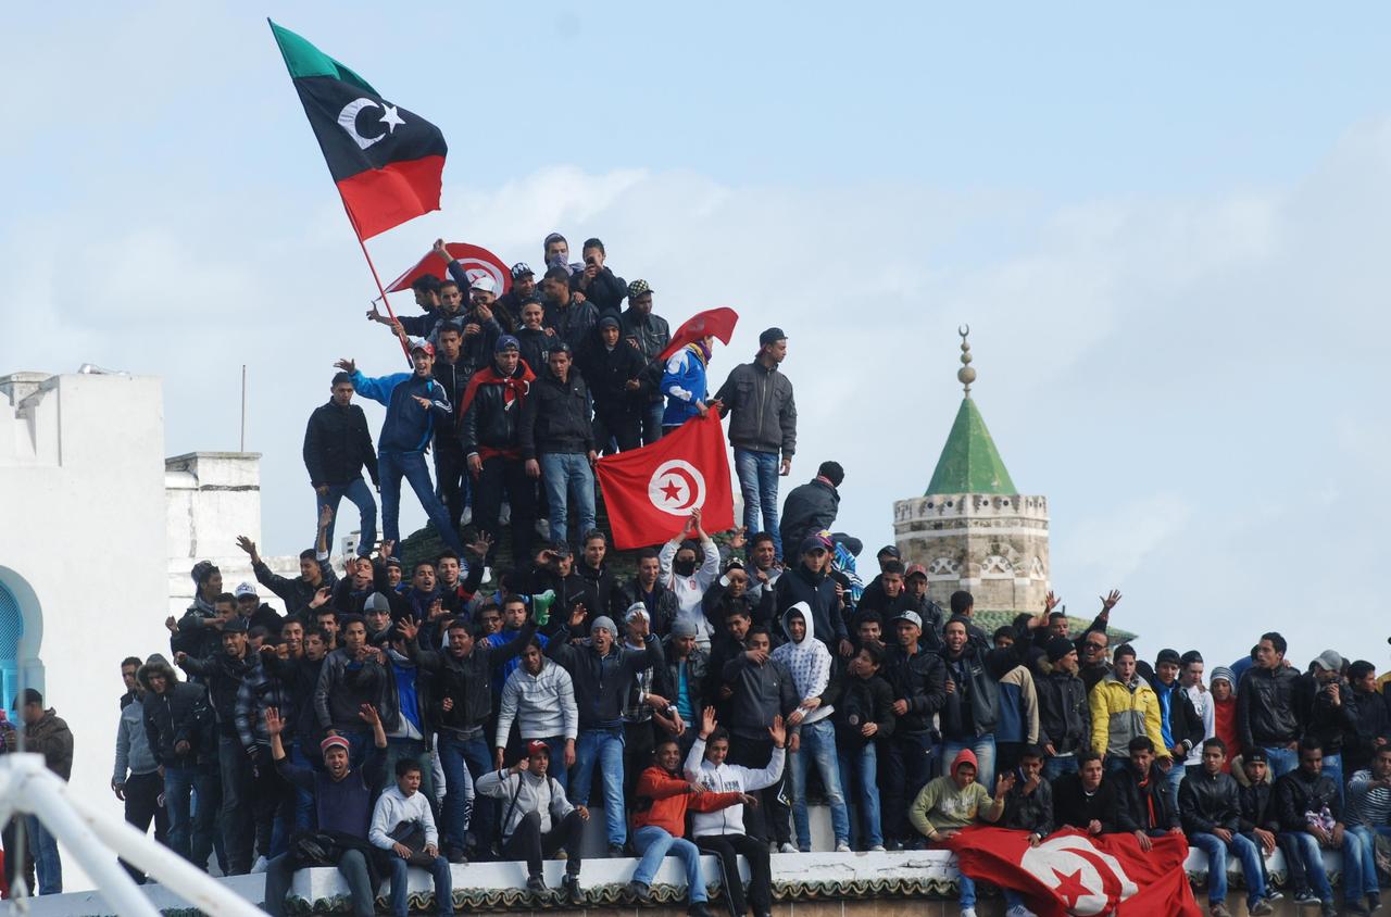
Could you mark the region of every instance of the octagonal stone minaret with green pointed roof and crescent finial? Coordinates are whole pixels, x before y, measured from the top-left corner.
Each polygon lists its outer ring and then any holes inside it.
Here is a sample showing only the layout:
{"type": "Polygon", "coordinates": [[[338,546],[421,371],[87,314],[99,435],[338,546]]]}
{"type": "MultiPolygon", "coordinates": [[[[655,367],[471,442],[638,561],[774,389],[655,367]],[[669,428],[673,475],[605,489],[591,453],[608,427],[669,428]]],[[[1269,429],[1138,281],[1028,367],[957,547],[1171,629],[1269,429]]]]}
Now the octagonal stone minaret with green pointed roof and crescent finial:
{"type": "Polygon", "coordinates": [[[1047,498],[1018,493],[971,399],[970,327],[960,330],[965,397],[928,493],[893,504],[904,564],[928,569],[928,596],[947,607],[958,589],[979,611],[1039,611],[1049,590],[1047,498]]]}

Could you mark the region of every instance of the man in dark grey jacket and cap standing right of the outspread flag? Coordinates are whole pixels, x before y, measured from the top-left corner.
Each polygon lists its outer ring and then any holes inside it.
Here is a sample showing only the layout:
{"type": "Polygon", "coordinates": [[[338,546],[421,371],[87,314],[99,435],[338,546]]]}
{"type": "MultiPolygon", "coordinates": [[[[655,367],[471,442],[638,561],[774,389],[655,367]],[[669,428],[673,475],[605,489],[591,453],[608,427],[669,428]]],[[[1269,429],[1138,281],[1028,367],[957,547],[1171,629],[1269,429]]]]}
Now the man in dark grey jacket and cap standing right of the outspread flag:
{"type": "Polygon", "coordinates": [[[768,328],[758,335],[754,362],[730,370],[715,395],[721,415],[733,415],[729,444],[734,447],[734,472],[744,495],[744,527],[773,533],[778,557],[783,547],[778,533],[778,477],[791,472],[797,451],[797,404],[787,376],[778,372],[786,358],[787,335],[782,328],[768,328]]]}

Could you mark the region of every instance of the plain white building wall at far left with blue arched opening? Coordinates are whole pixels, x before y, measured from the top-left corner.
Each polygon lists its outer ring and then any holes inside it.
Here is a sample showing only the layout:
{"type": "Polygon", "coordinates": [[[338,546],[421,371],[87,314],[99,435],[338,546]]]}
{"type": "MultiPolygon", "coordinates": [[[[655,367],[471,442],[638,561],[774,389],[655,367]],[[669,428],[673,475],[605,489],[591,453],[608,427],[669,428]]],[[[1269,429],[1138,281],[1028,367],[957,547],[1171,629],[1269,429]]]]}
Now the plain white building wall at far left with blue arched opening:
{"type": "Polygon", "coordinates": [[[42,635],[45,700],[75,739],[74,790],[118,813],[120,662],[168,651],[163,394],[140,376],[38,378],[0,377],[0,582],[31,648],[42,635]]]}

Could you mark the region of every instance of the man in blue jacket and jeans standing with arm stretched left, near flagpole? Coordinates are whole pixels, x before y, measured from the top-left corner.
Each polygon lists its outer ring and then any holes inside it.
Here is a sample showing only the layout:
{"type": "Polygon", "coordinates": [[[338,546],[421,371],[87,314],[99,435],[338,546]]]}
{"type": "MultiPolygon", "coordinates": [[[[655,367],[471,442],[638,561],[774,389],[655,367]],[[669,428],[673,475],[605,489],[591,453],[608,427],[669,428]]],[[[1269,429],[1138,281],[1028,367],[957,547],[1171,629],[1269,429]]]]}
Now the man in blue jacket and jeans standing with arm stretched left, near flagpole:
{"type": "Polygon", "coordinates": [[[367,378],[357,372],[352,359],[335,363],[352,374],[353,388],[363,398],[387,405],[387,419],[377,437],[377,470],[381,477],[381,534],[387,541],[401,544],[401,479],[410,483],[420,505],[434,523],[441,540],[463,554],[459,532],[449,522],[449,511],[435,495],[426,465],[426,447],[435,424],[452,430],[453,406],[449,395],[433,376],[434,345],[415,341],[410,345],[413,373],[394,373],[367,378]]]}

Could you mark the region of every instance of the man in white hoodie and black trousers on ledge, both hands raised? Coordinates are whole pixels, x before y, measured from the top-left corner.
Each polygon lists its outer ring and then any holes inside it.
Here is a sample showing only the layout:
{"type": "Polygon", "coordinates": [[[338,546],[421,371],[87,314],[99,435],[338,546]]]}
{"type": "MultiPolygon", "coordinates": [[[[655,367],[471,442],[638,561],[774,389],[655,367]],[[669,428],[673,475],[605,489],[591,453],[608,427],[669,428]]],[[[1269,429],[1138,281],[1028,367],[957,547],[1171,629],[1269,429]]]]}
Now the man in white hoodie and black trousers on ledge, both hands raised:
{"type": "MultiPolygon", "coordinates": [[[[700,737],[686,756],[686,779],[712,793],[755,793],[778,786],[782,782],[787,757],[785,746],[789,740],[782,717],[772,718],[768,736],[772,751],[765,767],[754,770],[732,764],[727,761],[730,736],[719,726],[715,708],[707,707],[701,714],[700,737]]],[[[696,846],[721,859],[730,913],[747,914],[753,907],[754,917],[772,917],[773,882],[768,840],[744,831],[744,815],[751,811],[757,811],[757,806],[696,813],[691,817],[691,836],[696,846]],[[747,891],[739,875],[740,856],[748,863],[747,891]]]]}

